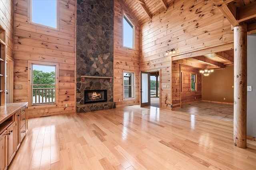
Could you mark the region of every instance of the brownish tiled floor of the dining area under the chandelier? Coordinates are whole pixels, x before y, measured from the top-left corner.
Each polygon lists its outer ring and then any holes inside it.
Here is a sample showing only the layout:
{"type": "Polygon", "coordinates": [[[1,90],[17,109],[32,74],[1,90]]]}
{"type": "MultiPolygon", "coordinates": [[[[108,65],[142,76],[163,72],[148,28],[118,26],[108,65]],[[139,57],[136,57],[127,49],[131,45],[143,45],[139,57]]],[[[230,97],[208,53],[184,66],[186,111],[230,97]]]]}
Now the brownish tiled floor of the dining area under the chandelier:
{"type": "Polygon", "coordinates": [[[196,102],[192,104],[184,104],[181,109],[176,109],[175,111],[182,111],[193,115],[202,115],[232,122],[234,121],[233,108],[234,107],[231,104],[196,102]]]}

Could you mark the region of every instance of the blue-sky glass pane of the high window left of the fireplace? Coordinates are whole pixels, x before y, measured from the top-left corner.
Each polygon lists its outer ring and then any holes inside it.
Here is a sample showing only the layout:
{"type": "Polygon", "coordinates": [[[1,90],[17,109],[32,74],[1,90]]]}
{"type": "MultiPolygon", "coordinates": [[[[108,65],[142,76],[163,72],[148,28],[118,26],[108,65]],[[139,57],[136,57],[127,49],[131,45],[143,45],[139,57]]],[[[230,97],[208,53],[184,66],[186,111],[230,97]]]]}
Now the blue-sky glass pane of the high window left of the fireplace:
{"type": "Polygon", "coordinates": [[[57,28],[57,0],[32,0],[31,21],[57,28]]]}

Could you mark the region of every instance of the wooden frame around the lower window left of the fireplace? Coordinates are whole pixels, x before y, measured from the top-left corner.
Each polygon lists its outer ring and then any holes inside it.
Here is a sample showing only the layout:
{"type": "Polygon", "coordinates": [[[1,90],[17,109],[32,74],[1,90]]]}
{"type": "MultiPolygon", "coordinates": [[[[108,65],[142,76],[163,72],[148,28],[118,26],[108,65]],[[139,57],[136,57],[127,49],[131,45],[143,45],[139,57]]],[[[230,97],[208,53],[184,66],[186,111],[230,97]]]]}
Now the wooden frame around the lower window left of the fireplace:
{"type": "Polygon", "coordinates": [[[42,61],[28,61],[28,107],[56,107],[59,105],[59,63],[50,63],[50,62],[42,62],[42,61]],[[46,103],[46,104],[35,104],[33,105],[33,90],[32,90],[32,80],[33,80],[33,74],[32,74],[32,65],[45,65],[45,66],[55,66],[55,103],[46,103]]]}

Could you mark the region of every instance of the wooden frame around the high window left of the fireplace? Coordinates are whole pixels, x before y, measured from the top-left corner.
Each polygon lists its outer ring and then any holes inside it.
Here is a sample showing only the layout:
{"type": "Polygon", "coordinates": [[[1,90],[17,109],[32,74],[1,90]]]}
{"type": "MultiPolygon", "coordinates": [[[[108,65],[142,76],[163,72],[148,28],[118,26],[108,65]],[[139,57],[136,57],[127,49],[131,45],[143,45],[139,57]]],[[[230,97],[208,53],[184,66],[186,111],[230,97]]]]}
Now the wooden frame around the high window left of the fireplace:
{"type": "Polygon", "coordinates": [[[40,23],[36,23],[36,22],[32,22],[32,0],[29,0],[28,2],[28,23],[32,24],[32,25],[37,25],[37,26],[40,26],[40,27],[45,27],[45,28],[51,28],[51,29],[55,29],[55,30],[58,30],[59,31],[59,28],[60,28],[60,2],[59,0],[56,0],[56,28],[55,27],[51,27],[51,26],[48,26],[48,25],[43,25],[43,24],[40,24],[40,23]]]}

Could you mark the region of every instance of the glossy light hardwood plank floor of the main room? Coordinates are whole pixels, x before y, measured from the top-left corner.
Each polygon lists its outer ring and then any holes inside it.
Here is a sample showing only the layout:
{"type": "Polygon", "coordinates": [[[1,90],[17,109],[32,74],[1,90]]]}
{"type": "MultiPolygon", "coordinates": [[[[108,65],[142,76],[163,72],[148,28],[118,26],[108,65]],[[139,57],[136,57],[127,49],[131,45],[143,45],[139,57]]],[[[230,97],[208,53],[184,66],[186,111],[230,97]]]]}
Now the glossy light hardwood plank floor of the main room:
{"type": "Polygon", "coordinates": [[[255,142],[233,123],[157,107],[118,107],[28,120],[9,170],[255,170],[255,142]]]}

